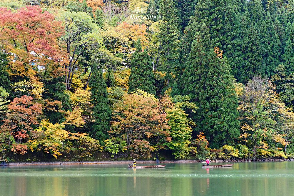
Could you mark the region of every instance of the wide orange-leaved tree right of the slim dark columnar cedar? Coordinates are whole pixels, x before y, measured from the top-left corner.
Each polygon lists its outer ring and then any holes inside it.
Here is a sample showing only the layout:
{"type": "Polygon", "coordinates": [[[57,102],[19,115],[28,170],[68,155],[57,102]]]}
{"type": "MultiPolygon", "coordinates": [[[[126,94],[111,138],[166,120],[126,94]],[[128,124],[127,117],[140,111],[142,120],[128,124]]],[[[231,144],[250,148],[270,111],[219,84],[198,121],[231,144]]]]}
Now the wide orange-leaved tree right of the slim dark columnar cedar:
{"type": "Polygon", "coordinates": [[[156,137],[169,141],[166,114],[160,111],[158,100],[137,94],[124,94],[113,106],[110,134],[122,134],[130,146],[134,140],[156,137]]]}

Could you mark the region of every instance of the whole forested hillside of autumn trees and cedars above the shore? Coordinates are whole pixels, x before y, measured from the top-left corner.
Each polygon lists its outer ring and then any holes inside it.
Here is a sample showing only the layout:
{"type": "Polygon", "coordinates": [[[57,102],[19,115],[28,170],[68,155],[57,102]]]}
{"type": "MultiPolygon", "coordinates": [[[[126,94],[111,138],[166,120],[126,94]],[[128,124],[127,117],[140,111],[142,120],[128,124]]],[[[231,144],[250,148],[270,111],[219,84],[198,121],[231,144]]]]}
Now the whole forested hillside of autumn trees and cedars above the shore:
{"type": "Polygon", "coordinates": [[[294,158],[294,0],[0,0],[0,161],[294,158]]]}

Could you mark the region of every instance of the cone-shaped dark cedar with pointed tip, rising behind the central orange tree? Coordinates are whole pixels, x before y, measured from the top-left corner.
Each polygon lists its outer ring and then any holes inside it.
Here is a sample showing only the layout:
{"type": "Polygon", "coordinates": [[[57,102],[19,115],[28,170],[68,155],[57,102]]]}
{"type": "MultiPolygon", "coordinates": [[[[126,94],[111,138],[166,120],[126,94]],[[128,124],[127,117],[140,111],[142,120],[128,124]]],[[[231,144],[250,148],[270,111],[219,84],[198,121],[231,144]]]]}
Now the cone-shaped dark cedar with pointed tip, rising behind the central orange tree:
{"type": "Polygon", "coordinates": [[[129,77],[128,92],[141,89],[149,94],[155,94],[155,80],[152,72],[152,61],[146,51],[142,51],[141,41],[138,39],[136,52],[131,58],[131,75],[129,77]]]}

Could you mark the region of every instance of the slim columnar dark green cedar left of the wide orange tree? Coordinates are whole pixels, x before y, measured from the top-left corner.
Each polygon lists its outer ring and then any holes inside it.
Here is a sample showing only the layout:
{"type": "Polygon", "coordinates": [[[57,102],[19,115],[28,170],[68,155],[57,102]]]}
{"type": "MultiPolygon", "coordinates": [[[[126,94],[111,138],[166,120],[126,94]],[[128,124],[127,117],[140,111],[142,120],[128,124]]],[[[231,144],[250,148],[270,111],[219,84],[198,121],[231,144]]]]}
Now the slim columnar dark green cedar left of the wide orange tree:
{"type": "Polygon", "coordinates": [[[91,102],[94,105],[93,117],[95,119],[90,135],[102,142],[108,138],[111,110],[108,106],[106,83],[102,71],[97,68],[97,65],[93,66],[89,87],[91,88],[91,102]]]}

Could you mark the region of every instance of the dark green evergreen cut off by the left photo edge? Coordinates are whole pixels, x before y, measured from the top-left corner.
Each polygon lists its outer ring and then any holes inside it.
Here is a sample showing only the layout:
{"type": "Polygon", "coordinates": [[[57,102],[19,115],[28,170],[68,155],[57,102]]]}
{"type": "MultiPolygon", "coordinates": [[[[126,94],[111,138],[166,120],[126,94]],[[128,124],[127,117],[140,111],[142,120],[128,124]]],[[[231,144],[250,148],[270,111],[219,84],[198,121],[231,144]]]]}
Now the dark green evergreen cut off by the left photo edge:
{"type": "Polygon", "coordinates": [[[10,80],[9,74],[7,72],[7,65],[7,55],[0,50],[0,86],[2,86],[6,90],[10,88],[10,80]]]}

